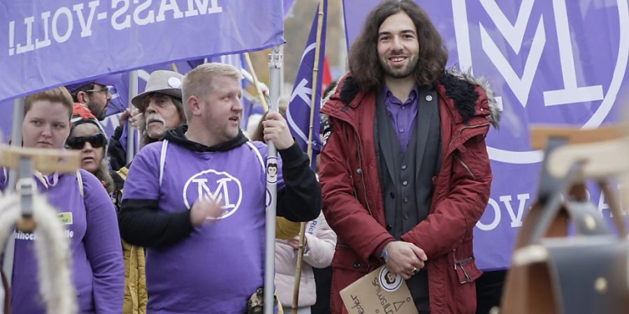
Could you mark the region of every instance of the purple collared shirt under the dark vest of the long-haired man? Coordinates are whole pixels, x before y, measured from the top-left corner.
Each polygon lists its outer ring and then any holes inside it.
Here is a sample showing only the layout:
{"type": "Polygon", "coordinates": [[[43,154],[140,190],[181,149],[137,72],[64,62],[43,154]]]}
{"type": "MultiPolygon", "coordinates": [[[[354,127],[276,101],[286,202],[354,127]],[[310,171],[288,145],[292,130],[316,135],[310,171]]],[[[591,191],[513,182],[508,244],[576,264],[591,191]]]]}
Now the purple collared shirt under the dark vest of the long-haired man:
{"type": "Polygon", "coordinates": [[[417,95],[419,95],[419,91],[417,87],[414,87],[408,94],[408,99],[402,102],[386,86],[384,87],[384,107],[391,118],[393,128],[396,130],[403,153],[406,153],[415,126],[415,118],[417,118],[419,108],[417,95]]]}

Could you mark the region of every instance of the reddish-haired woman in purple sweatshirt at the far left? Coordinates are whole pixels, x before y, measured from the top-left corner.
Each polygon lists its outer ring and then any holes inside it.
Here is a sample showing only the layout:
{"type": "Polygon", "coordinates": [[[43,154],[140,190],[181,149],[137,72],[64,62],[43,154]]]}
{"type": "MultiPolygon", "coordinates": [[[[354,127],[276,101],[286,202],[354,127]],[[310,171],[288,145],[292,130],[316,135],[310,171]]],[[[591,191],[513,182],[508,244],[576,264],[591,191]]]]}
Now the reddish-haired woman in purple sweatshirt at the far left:
{"type": "MultiPolygon", "coordinates": [[[[24,147],[63,149],[70,133],[73,102],[64,87],[24,99],[24,147]]],[[[70,242],[73,289],[79,313],[122,312],[124,264],[116,212],[98,179],[85,170],[72,174],[34,171],[38,193],[64,217],[70,242]]],[[[8,184],[0,172],[0,190],[8,184]]],[[[46,313],[39,292],[34,234],[15,232],[11,313],[46,313]]]]}

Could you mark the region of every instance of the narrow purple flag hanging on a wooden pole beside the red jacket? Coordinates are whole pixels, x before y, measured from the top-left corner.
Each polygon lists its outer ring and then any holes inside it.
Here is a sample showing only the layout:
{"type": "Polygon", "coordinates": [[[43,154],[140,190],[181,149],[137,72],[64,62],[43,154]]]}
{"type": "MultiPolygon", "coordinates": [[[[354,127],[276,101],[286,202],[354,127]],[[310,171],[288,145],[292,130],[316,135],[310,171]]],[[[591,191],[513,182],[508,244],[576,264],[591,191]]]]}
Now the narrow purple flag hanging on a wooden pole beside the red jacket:
{"type": "MultiPolygon", "coordinates": [[[[324,13],[327,12],[328,1],[324,0],[324,13]]],[[[319,7],[317,6],[317,13],[319,7]]],[[[303,55],[301,56],[301,64],[297,72],[291,100],[286,111],[286,119],[297,142],[301,145],[301,149],[308,149],[308,133],[310,132],[310,97],[312,96],[312,70],[315,67],[315,47],[317,46],[317,25],[318,14],[315,14],[315,20],[312,22],[310,36],[306,42],[303,55]]],[[[321,46],[319,50],[319,69],[323,69],[324,57],[326,54],[326,20],[324,14],[323,27],[321,28],[321,46]]],[[[323,78],[323,70],[319,70],[317,75],[317,90],[315,94],[315,119],[312,121],[312,151],[318,153],[321,149],[321,139],[319,138],[319,109],[321,108],[321,80],[323,78]]],[[[312,160],[315,160],[314,156],[312,160]]]]}

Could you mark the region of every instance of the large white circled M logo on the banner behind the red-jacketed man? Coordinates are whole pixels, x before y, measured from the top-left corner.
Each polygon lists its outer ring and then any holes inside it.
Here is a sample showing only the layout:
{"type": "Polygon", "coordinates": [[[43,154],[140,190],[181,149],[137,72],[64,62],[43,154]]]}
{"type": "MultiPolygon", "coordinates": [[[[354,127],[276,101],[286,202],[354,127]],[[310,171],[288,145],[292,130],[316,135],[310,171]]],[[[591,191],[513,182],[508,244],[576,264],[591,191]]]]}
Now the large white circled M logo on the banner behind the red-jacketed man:
{"type": "MultiPolygon", "coordinates": [[[[621,87],[629,58],[628,3],[626,0],[617,0],[616,2],[619,13],[620,41],[618,59],[614,66],[607,93],[603,91],[601,84],[579,86],[577,83],[575,66],[578,66],[578,63],[575,63],[573,52],[578,51],[578,47],[574,46],[570,36],[570,24],[565,0],[553,0],[552,3],[556,34],[547,33],[544,27],[544,22],[547,21],[545,18],[549,17],[545,17],[543,13],[537,16],[531,14],[535,0],[523,0],[521,2],[514,24],[507,20],[505,13],[500,9],[496,0],[479,0],[482,8],[491,18],[491,23],[496,25],[499,35],[505,38],[515,54],[521,55],[521,59],[523,59],[521,74],[516,73],[512,64],[505,57],[506,53],[496,45],[483,22],[479,22],[480,38],[470,38],[466,0],[452,0],[454,20],[457,21],[454,24],[454,29],[459,64],[462,69],[472,68],[471,43],[480,43],[482,51],[491,59],[493,66],[498,69],[509,89],[513,91],[517,103],[522,105],[522,107],[526,107],[530,90],[533,86],[533,78],[539,68],[544,48],[546,50],[557,50],[560,61],[558,66],[561,67],[561,75],[563,77],[563,89],[544,91],[544,106],[570,105],[602,100],[598,109],[582,126],[583,128],[596,128],[600,126],[607,114],[609,114],[609,110],[612,109],[621,87]],[[523,52],[521,52],[521,47],[525,40],[526,27],[530,23],[535,23],[537,26],[535,27],[533,39],[530,40],[528,56],[525,57],[523,52]],[[557,36],[558,46],[549,47],[547,45],[547,36],[557,36]]],[[[493,34],[493,37],[495,38],[496,34],[493,34]]],[[[498,105],[502,109],[503,98],[499,96],[496,100],[498,100],[498,105]]],[[[492,160],[503,163],[528,164],[539,163],[542,160],[540,151],[508,151],[489,146],[487,149],[492,160]]]]}

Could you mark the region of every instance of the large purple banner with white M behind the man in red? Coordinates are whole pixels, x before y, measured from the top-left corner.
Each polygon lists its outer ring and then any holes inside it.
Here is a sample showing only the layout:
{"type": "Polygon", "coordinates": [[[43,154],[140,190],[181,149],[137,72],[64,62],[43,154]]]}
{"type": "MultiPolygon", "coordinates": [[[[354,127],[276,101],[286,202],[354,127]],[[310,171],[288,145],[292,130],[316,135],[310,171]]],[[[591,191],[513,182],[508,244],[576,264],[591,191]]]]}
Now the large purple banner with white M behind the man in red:
{"type": "MultiPolygon", "coordinates": [[[[619,121],[629,101],[629,9],[607,1],[417,1],[444,38],[449,66],[487,77],[503,119],[487,137],[494,174],[491,198],[475,227],[482,269],[509,266],[516,232],[533,204],[540,151],[534,124],[596,128],[619,121]],[[455,22],[456,21],[456,22],[455,22]]],[[[344,0],[348,43],[379,1],[344,0]]],[[[421,45],[421,38],[419,38],[421,45]]],[[[604,216],[598,190],[591,198],[604,216]]]]}

